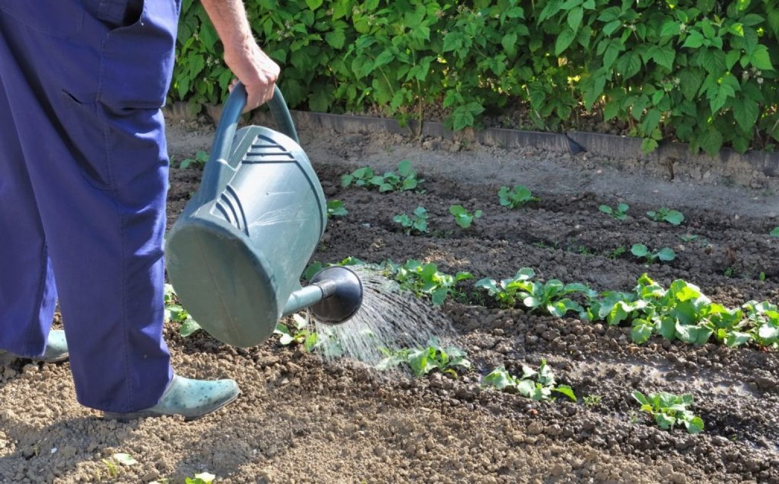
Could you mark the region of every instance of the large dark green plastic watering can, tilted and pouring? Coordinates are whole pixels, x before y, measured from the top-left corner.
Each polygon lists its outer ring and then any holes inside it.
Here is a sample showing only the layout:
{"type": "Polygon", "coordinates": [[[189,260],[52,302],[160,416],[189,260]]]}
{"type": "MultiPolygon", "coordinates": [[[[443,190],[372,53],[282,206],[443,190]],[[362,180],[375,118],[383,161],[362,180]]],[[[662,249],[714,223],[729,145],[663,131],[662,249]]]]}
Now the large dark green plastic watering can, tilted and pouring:
{"type": "Polygon", "coordinates": [[[327,224],[327,205],[278,87],[269,102],[281,132],[238,129],[246,90],[236,84],[217,125],[199,189],[166,240],[167,274],[179,301],[211,336],[247,348],[282,316],[309,308],[344,323],[362,303],[360,278],[328,267],[300,277],[327,224]]]}

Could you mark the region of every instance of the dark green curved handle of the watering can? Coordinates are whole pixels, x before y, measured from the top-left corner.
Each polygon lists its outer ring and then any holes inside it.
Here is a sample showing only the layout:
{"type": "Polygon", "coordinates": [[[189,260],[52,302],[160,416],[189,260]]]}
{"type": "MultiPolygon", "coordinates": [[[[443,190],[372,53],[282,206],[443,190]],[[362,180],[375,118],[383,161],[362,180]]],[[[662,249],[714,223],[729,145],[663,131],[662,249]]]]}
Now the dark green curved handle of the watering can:
{"type": "MultiPolygon", "coordinates": [[[[224,178],[232,176],[233,170],[227,161],[230,159],[235,130],[238,129],[238,120],[246,107],[246,98],[244,85],[240,82],[235,83],[224,103],[224,108],[222,108],[222,115],[219,118],[217,132],[211,146],[211,156],[203,170],[203,182],[201,182],[208,199],[215,198],[220,187],[227,182],[224,178]]],[[[268,101],[268,107],[279,131],[299,144],[298,131],[294,127],[287,102],[284,101],[284,96],[278,86],[273,89],[273,97],[268,101]]]]}

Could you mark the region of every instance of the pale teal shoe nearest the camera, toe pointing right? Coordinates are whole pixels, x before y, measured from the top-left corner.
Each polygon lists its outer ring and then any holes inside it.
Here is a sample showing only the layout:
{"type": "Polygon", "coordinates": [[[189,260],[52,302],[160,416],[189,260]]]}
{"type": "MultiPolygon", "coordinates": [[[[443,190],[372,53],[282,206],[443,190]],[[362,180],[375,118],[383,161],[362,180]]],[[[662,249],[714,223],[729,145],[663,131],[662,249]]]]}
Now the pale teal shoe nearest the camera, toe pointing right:
{"type": "Polygon", "coordinates": [[[157,405],[138,412],[104,412],[103,418],[127,422],[144,417],[182,415],[187,421],[195,420],[219,410],[239,394],[241,390],[234,380],[192,380],[174,375],[157,405]]]}

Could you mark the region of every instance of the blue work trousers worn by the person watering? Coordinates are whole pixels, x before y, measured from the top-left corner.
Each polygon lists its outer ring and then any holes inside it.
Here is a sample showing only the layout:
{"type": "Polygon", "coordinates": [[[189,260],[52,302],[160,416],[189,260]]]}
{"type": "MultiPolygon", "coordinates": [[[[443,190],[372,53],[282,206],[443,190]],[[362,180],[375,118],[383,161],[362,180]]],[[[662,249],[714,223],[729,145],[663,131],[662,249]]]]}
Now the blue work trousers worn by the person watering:
{"type": "Polygon", "coordinates": [[[179,8],[0,0],[0,348],[42,355],[59,302],[78,400],[107,412],[173,376],[160,107],[179,8]]]}

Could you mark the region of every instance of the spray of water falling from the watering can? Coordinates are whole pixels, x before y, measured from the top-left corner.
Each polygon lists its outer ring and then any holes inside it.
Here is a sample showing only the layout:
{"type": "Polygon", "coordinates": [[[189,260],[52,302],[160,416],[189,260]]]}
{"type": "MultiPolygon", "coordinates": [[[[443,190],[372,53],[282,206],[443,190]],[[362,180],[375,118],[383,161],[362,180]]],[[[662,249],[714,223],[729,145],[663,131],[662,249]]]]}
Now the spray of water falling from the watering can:
{"type": "Polygon", "coordinates": [[[449,319],[428,302],[368,267],[352,267],[362,281],[364,297],[358,312],[345,323],[329,325],[314,319],[317,352],[324,359],[350,358],[375,366],[382,349],[421,348],[432,336],[453,339],[449,319]]]}

